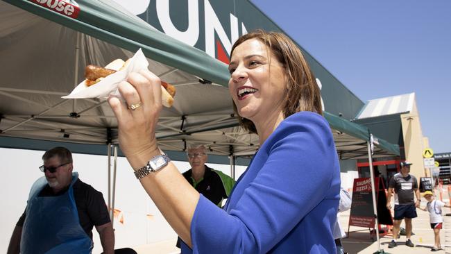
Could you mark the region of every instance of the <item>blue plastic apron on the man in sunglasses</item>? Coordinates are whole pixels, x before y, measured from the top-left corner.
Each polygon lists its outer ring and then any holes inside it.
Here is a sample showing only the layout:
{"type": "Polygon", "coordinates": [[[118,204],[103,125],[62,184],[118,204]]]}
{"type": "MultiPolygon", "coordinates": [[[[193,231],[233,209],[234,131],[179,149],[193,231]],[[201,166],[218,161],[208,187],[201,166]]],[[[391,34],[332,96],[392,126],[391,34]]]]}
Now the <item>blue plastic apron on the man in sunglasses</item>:
{"type": "Polygon", "coordinates": [[[91,253],[92,240],[80,226],[74,199],[77,179],[78,173],[72,173],[69,189],[60,196],[38,196],[47,181],[44,176],[36,180],[28,197],[21,253],[91,253]]]}

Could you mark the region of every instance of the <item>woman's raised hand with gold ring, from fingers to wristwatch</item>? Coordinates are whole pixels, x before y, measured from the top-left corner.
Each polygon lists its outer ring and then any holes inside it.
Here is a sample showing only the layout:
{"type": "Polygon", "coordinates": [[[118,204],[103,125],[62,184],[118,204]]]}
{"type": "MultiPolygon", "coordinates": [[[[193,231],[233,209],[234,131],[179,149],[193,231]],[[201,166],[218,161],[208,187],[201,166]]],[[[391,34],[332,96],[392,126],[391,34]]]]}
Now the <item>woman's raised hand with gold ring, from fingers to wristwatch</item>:
{"type": "Polygon", "coordinates": [[[119,92],[126,103],[110,96],[108,103],[119,126],[119,146],[133,169],[143,167],[158,150],[155,128],[161,101],[161,81],[151,71],[130,73],[127,81],[119,83],[119,92]],[[130,105],[135,105],[131,109],[130,105]]]}

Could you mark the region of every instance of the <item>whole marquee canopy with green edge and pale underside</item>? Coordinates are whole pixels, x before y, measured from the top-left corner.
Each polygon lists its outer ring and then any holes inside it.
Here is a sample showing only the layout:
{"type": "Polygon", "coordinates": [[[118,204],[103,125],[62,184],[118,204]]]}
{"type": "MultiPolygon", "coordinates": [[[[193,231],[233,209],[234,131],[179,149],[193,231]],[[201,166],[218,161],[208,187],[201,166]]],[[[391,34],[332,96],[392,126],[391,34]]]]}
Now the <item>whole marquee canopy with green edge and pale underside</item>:
{"type": "MultiPolygon", "coordinates": [[[[0,146],[49,144],[11,139],[19,137],[83,144],[74,152],[98,154],[96,145],[116,144],[117,121],[108,103],[61,96],[83,80],[86,65],[130,58],[141,48],[149,69],[177,88],[173,108],[164,108],[158,123],[162,149],[182,152],[196,143],[214,155],[235,156],[258,149],[257,137],[238,127],[223,62],[157,31],[114,1],[77,0],[73,11],[70,1],[65,8],[60,1],[34,2],[0,1],[0,146]]],[[[366,127],[327,112],[325,118],[341,159],[367,157],[366,127]]],[[[376,156],[399,155],[398,146],[383,140],[376,147],[376,156]]]]}

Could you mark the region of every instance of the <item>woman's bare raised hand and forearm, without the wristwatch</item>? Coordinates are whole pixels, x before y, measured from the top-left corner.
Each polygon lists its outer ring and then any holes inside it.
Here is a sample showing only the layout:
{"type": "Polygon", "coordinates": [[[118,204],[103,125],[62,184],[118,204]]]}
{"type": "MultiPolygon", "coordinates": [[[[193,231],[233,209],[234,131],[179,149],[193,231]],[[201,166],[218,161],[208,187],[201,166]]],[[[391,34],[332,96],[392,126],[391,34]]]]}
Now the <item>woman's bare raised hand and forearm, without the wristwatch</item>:
{"type": "MultiPolygon", "coordinates": [[[[119,126],[119,146],[128,162],[137,170],[148,160],[159,155],[155,129],[162,109],[161,81],[151,71],[139,71],[128,75],[119,84],[119,92],[126,103],[110,97],[110,103],[119,126]],[[135,110],[128,108],[137,105],[135,110]]],[[[200,194],[189,185],[171,162],[164,169],[141,178],[147,194],[162,212],[177,234],[191,246],[191,221],[200,194]],[[180,193],[183,195],[180,196],[180,193]]]]}

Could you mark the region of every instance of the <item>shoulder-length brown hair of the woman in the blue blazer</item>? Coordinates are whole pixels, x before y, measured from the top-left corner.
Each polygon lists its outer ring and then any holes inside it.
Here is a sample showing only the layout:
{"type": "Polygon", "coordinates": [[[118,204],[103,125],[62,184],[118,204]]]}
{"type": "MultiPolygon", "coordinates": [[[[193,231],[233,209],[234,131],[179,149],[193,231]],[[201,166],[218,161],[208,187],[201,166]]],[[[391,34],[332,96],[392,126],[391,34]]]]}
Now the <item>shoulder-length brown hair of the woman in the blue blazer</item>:
{"type": "MultiPolygon", "coordinates": [[[[239,44],[250,39],[257,39],[263,42],[268,47],[269,52],[274,54],[285,69],[288,83],[287,97],[285,99],[287,103],[285,103],[283,108],[284,118],[300,111],[312,111],[323,115],[321,92],[316,84],[314,74],[298,46],[283,33],[257,30],[239,37],[232,46],[230,57],[239,44]]],[[[252,121],[239,116],[235,103],[233,103],[233,110],[239,119],[241,127],[251,133],[257,133],[252,121]]]]}

